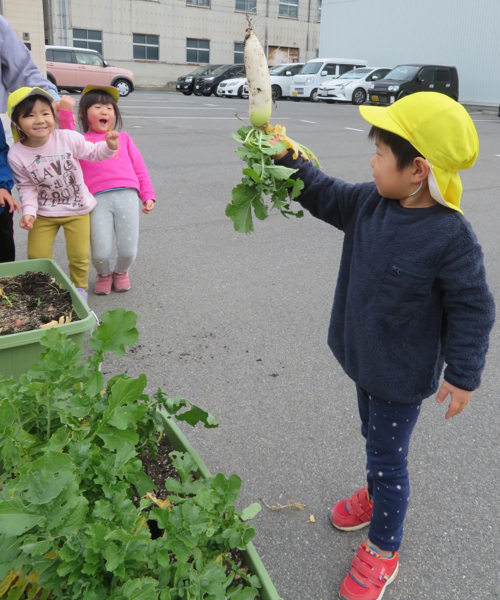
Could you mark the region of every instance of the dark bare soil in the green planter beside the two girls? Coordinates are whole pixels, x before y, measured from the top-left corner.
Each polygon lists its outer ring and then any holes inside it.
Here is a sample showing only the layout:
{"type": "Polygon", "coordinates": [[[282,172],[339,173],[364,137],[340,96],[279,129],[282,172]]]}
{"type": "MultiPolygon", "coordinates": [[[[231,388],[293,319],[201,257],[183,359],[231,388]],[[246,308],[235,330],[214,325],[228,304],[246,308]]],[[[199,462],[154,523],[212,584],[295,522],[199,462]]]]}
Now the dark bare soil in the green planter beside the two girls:
{"type": "Polygon", "coordinates": [[[0,278],[0,335],[32,331],[63,317],[77,321],[71,295],[47,273],[30,271],[0,278]]]}

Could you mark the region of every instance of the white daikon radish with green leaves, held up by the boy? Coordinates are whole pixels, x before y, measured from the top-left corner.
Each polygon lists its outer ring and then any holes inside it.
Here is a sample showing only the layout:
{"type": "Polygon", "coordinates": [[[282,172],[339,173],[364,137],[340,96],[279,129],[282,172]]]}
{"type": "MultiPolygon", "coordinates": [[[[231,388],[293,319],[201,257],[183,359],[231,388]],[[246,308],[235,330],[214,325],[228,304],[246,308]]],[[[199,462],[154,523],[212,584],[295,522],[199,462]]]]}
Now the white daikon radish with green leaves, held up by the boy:
{"type": "Polygon", "coordinates": [[[315,155],[294,140],[286,136],[285,127],[270,124],[273,99],[267,59],[261,43],[248,22],[243,59],[248,81],[248,116],[252,125],[241,127],[233,139],[242,144],[236,154],[247,163],[243,169],[241,184],[232,190],[232,202],[226,206],[226,215],[236,231],[253,231],[252,209],[255,216],[264,220],[268,217],[269,206],[265,196],[271,196],[271,208],[278,209],[284,217],[294,215],[302,217],[303,211],[294,212],[290,203],[297,198],[304,187],[300,179],[291,176],[297,169],[273,164],[273,159],[285,156],[288,149],[294,151],[293,157],[300,154],[304,160],[310,158],[319,166],[315,155]]]}

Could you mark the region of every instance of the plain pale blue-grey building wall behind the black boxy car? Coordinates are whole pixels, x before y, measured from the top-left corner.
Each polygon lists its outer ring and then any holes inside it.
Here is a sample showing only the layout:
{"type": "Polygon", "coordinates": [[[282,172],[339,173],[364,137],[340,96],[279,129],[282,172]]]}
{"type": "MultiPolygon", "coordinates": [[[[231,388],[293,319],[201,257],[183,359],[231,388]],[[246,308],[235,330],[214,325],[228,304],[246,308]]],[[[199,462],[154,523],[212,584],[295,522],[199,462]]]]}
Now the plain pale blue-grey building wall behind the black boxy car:
{"type": "Polygon", "coordinates": [[[499,0],[328,0],[322,9],[322,56],[355,55],[370,65],[454,65],[459,100],[500,102],[499,0]]]}

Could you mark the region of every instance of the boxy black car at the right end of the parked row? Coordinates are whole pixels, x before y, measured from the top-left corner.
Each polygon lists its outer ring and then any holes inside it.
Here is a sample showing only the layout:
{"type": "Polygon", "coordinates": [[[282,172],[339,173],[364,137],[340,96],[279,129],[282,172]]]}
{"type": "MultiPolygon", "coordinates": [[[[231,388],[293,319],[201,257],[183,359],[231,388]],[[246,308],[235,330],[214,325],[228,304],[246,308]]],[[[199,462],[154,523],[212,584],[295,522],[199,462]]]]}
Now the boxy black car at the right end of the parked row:
{"type": "Polygon", "coordinates": [[[373,82],[367,104],[393,104],[414,92],[441,92],[458,100],[459,76],[456,67],[441,65],[398,65],[384,79],[373,82]]]}

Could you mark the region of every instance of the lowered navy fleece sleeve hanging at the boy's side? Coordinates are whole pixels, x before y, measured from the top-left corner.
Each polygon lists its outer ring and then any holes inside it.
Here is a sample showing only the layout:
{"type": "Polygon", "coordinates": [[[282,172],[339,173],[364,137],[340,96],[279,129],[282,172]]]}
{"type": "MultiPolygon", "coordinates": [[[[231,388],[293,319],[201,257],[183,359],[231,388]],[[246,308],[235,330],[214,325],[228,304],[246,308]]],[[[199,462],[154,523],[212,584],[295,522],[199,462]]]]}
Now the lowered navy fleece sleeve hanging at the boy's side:
{"type": "Polygon", "coordinates": [[[495,302],[477,238],[470,227],[460,233],[447,248],[438,275],[449,327],[444,378],[457,388],[473,391],[481,383],[495,302]]]}

